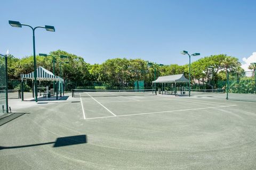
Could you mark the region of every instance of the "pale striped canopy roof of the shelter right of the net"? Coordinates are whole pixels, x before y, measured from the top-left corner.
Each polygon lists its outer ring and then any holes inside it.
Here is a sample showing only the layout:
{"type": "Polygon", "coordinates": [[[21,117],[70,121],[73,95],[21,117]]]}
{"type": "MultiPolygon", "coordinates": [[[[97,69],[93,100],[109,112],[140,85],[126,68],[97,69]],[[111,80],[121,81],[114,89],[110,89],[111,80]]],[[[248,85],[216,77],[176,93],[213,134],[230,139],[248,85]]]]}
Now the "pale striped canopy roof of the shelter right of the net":
{"type": "Polygon", "coordinates": [[[181,82],[188,82],[188,79],[185,78],[183,74],[177,74],[177,75],[167,75],[158,77],[157,80],[152,81],[153,83],[181,83],[181,82]]]}

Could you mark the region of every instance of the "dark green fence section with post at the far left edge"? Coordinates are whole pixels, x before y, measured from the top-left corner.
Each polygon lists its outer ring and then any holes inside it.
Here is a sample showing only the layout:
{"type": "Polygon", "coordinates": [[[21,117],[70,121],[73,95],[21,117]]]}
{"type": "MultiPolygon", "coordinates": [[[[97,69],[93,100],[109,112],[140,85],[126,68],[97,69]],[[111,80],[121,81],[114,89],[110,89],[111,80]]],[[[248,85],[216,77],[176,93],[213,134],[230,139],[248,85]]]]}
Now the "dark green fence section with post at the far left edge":
{"type": "Polygon", "coordinates": [[[4,58],[0,58],[0,115],[6,111],[6,80],[5,80],[5,62],[4,58]]]}

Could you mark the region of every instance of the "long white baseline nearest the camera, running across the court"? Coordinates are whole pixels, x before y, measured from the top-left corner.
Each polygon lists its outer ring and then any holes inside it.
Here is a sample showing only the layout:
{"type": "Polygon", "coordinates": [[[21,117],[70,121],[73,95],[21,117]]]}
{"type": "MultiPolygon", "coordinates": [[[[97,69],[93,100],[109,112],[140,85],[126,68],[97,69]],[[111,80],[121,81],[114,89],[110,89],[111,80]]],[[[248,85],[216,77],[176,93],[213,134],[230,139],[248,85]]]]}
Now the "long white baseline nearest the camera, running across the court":
{"type": "Polygon", "coordinates": [[[148,114],[171,113],[171,112],[182,112],[182,111],[195,111],[195,110],[201,110],[201,109],[211,109],[211,108],[221,108],[221,107],[231,107],[231,106],[237,106],[237,105],[190,108],[190,109],[181,109],[181,110],[174,110],[174,111],[149,112],[149,113],[138,113],[138,114],[128,114],[128,115],[117,115],[117,116],[92,117],[92,118],[86,118],[86,120],[98,119],[98,118],[108,118],[108,117],[124,117],[124,116],[148,115],[148,114]]]}

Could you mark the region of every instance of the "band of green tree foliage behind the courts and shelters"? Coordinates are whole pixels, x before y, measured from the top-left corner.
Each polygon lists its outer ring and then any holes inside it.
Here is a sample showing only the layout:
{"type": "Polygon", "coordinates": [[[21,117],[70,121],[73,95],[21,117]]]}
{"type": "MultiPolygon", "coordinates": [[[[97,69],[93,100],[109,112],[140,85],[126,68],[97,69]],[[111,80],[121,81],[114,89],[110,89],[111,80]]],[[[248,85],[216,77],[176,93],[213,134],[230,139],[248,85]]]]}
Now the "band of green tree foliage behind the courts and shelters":
{"type": "MultiPolygon", "coordinates": [[[[163,75],[185,74],[188,78],[189,67],[186,65],[171,64],[149,66],[149,61],[127,58],[113,58],[101,64],[86,63],[83,57],[70,54],[62,50],[51,52],[50,55],[57,57],[55,74],[60,75],[59,61],[68,61],[62,64],[62,78],[68,81],[99,81],[108,83],[109,86],[123,87],[132,86],[135,80],[144,80],[150,85],[156,73],[156,78],[163,75]],[[60,58],[67,55],[68,58],[60,58]]],[[[53,72],[52,57],[36,56],[37,66],[53,72]]],[[[150,61],[151,62],[151,61],[150,61]]],[[[9,56],[8,62],[9,79],[20,79],[21,74],[34,71],[33,56],[16,58],[9,56]]],[[[242,72],[238,58],[225,54],[212,55],[200,58],[191,63],[191,83],[197,86],[216,88],[214,82],[225,81],[227,71],[242,72]]]]}

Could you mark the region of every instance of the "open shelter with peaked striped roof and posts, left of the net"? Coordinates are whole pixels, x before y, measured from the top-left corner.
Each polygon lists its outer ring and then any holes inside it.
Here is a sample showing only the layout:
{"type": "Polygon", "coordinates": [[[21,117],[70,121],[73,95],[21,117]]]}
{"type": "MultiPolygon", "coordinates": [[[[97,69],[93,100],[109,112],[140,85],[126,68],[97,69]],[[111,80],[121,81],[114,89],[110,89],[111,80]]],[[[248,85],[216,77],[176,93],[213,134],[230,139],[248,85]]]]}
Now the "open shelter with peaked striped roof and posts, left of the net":
{"type": "MultiPolygon", "coordinates": [[[[56,81],[59,82],[60,86],[57,89],[61,90],[63,89],[63,86],[61,87],[61,84],[63,84],[64,80],[60,77],[58,77],[57,75],[54,75],[52,72],[50,72],[49,70],[44,69],[44,67],[39,66],[36,69],[36,80],[37,81],[56,81]]],[[[21,99],[23,100],[23,80],[32,80],[34,81],[34,72],[28,73],[28,74],[21,74],[21,99]]],[[[49,90],[49,89],[48,89],[49,90]]],[[[47,90],[47,91],[48,91],[47,90]]],[[[34,97],[34,87],[33,87],[33,97],[34,97]]],[[[48,98],[48,92],[46,94],[47,98],[48,98]]],[[[58,90],[57,90],[57,95],[56,98],[58,99],[58,90]]]]}

